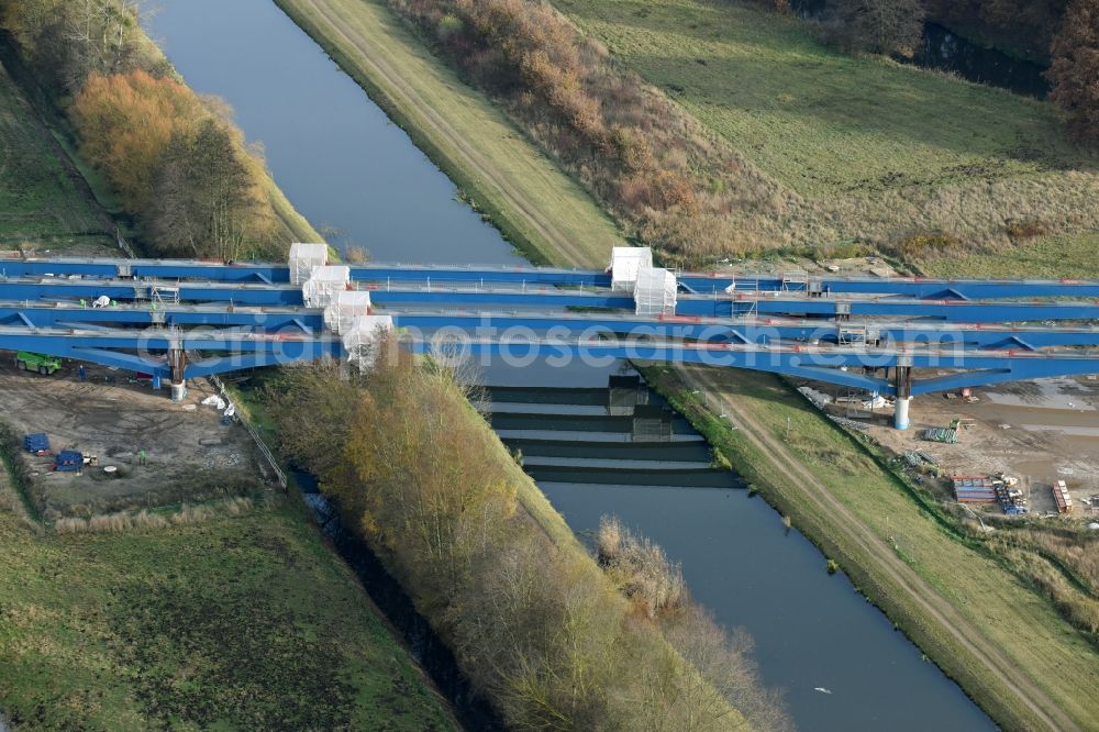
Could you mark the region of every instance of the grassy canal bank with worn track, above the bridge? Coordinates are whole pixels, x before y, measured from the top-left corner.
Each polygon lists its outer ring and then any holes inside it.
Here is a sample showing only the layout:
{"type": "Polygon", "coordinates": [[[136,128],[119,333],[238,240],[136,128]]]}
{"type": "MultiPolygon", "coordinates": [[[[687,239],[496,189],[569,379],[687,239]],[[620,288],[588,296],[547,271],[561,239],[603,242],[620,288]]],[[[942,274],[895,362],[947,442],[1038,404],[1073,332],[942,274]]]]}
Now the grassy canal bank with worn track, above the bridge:
{"type": "Polygon", "coordinates": [[[625,245],[595,201],[384,2],[276,2],[528,258],[602,266],[611,246],[625,245]]]}

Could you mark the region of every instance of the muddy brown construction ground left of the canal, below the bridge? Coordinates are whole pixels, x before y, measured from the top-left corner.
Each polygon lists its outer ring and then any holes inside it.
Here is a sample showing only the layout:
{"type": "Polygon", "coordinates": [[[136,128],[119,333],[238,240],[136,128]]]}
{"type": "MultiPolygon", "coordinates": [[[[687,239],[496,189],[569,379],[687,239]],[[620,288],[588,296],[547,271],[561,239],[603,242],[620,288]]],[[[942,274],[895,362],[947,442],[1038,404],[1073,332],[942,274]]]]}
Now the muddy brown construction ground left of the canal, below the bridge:
{"type": "Polygon", "coordinates": [[[97,467],[52,470],[53,457],[24,453],[34,472],[35,502],[46,519],[133,510],[237,495],[259,487],[254,446],[240,424],[200,402],[214,393],[204,379],[188,384],[182,403],[129,374],[66,363],[53,376],[16,370],[0,352],[0,419],[24,433],[45,432],[53,451],[98,457],[97,467]],[[138,465],[145,451],[146,465],[138,465]],[[115,468],[110,477],[103,468],[115,468]]]}

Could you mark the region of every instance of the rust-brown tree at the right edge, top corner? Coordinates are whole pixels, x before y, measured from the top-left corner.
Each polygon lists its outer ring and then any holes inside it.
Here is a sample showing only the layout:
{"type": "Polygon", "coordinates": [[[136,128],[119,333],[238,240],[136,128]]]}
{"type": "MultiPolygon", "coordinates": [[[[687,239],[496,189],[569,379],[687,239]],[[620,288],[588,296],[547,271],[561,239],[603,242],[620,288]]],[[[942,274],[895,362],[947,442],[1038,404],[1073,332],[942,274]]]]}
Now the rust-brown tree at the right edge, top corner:
{"type": "Polygon", "coordinates": [[[1076,138],[1099,143],[1099,0],[1073,0],[1054,38],[1050,99],[1076,138]]]}

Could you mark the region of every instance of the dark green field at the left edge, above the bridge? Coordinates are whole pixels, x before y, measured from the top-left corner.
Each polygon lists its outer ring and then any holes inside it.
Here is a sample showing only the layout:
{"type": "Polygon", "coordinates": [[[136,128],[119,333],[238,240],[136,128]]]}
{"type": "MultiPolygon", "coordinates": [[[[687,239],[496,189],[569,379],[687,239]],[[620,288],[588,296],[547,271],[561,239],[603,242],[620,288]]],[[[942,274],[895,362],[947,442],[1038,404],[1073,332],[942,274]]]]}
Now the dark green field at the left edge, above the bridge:
{"type": "Polygon", "coordinates": [[[104,219],[0,66],[0,248],[113,247],[104,219]]]}

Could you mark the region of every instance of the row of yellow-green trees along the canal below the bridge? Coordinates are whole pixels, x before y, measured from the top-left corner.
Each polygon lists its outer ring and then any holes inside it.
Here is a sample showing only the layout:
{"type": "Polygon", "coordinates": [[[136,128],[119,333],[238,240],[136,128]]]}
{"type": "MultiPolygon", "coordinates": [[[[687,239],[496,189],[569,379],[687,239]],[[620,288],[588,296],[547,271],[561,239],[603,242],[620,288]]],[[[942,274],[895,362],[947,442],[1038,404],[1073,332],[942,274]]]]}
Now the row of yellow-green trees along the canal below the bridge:
{"type": "Polygon", "coordinates": [[[787,725],[742,639],[682,594],[648,612],[571,537],[552,539],[567,529],[524,509],[520,491],[535,489],[520,485],[529,479],[448,373],[389,344],[366,377],[296,367],[268,398],[282,448],[321,477],[345,528],[401,581],[509,729],[787,725]]]}

